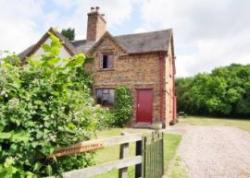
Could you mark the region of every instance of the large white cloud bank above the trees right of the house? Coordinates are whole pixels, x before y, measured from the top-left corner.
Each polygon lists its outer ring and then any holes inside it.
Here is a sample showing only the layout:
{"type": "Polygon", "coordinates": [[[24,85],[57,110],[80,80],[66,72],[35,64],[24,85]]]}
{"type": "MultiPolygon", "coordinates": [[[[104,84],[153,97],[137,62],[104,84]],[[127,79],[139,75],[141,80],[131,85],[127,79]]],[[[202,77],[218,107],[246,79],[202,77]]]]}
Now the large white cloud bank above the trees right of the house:
{"type": "Polygon", "coordinates": [[[250,1],[148,0],[143,27],[174,30],[178,76],[250,63],[250,1]]]}

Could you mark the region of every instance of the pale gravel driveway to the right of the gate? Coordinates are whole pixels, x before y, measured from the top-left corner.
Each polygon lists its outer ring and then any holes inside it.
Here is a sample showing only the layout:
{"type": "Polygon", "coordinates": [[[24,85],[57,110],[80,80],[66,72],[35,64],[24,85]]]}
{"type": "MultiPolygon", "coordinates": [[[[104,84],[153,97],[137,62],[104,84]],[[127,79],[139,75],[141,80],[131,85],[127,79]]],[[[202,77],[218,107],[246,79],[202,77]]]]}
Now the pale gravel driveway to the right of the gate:
{"type": "Polygon", "coordinates": [[[177,126],[190,178],[250,178],[250,133],[224,126],[177,126]]]}

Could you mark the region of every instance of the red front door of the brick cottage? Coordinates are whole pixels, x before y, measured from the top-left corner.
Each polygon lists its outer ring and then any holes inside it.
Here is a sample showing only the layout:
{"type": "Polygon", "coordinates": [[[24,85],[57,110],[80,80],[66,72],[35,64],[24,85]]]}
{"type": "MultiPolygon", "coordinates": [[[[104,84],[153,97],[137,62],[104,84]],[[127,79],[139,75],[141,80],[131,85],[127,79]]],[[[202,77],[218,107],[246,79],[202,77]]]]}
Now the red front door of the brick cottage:
{"type": "Polygon", "coordinates": [[[151,89],[137,90],[136,122],[152,123],[153,91],[151,89]]]}

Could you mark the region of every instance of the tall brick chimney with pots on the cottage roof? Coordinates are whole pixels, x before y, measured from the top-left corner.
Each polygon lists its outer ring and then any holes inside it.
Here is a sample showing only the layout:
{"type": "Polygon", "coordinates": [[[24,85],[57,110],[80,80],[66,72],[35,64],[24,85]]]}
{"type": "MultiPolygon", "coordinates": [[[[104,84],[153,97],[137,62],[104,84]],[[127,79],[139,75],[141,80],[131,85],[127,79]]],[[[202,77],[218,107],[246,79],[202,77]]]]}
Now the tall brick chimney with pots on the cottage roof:
{"type": "Polygon", "coordinates": [[[97,41],[106,32],[104,14],[100,14],[99,9],[91,7],[88,13],[87,41],[97,41]]]}

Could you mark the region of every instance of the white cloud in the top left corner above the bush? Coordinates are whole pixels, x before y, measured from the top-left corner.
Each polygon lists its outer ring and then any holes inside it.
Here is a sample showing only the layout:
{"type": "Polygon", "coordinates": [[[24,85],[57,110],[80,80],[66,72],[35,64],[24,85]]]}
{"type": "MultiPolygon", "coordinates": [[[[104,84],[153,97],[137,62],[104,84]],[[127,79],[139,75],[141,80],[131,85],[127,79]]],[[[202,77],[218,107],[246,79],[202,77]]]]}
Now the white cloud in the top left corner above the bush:
{"type": "Polygon", "coordinates": [[[20,52],[38,39],[34,19],[41,7],[38,0],[0,1],[0,50],[20,52]]]}

